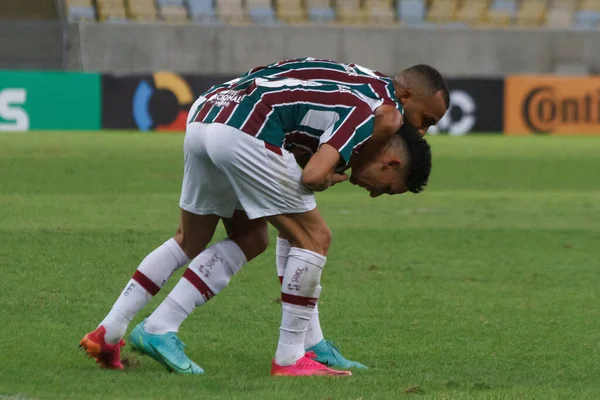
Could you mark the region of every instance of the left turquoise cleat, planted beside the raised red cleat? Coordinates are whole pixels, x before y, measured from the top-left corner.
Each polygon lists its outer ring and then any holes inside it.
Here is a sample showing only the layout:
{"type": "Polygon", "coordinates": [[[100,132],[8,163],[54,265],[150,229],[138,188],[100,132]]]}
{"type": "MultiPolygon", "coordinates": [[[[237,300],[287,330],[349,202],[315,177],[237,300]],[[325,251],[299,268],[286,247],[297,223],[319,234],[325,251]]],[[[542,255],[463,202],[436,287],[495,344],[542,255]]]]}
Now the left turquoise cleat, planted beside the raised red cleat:
{"type": "Polygon", "coordinates": [[[185,355],[185,344],[175,332],[155,335],[144,330],[144,323],[138,324],[129,335],[129,343],[134,350],[152,357],[169,372],[200,375],[204,370],[185,355]]]}

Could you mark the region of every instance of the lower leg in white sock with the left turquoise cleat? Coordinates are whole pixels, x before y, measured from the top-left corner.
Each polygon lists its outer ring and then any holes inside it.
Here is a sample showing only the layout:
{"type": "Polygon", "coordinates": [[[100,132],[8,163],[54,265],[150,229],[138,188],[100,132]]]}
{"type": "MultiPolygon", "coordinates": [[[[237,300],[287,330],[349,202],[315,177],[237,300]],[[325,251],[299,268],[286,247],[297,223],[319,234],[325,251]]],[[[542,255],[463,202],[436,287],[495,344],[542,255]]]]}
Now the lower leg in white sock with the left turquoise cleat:
{"type": "Polygon", "coordinates": [[[236,210],[231,218],[223,218],[223,223],[228,237],[192,260],[167,298],[130,335],[135,349],[169,371],[204,372],[183,351],[184,345],[177,336],[179,327],[195,308],[223,290],[233,275],[268,245],[267,223],[263,219],[249,220],[245,212],[236,210]]]}

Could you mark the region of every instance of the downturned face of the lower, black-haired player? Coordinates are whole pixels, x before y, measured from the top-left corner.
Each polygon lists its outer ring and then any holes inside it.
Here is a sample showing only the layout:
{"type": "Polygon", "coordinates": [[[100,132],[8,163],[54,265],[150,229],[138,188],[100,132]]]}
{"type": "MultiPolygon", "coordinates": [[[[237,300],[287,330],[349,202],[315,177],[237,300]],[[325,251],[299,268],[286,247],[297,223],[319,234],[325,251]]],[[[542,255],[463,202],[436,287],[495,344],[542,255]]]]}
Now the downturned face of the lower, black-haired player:
{"type": "Polygon", "coordinates": [[[406,168],[397,156],[389,152],[361,171],[352,171],[350,183],[368,190],[371,197],[379,197],[382,194],[402,194],[408,190],[406,168]]]}

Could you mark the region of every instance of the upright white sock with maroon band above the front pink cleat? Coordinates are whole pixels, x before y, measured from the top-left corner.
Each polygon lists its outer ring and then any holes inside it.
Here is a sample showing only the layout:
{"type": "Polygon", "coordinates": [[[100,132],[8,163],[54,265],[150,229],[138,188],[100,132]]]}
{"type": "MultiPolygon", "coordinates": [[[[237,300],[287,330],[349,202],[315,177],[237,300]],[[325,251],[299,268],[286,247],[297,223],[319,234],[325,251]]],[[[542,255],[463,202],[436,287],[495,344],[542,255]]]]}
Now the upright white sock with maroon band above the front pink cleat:
{"type": "Polygon", "coordinates": [[[281,286],[282,317],[275,363],[295,364],[304,356],[308,323],[319,300],[321,271],[326,257],[292,247],[281,286]]]}

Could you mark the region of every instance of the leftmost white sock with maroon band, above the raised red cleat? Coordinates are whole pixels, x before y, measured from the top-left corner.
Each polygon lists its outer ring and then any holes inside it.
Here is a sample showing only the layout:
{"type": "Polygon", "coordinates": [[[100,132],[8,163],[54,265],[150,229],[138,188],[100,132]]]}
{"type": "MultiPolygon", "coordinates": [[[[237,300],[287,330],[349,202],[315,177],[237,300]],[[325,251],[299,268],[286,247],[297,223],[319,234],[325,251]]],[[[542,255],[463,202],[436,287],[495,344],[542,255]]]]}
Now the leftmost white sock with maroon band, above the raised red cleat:
{"type": "Polygon", "coordinates": [[[173,272],[188,262],[189,258],[173,238],[148,254],[100,323],[106,329],[104,340],[118,343],[133,317],[158,293],[173,272]]]}

